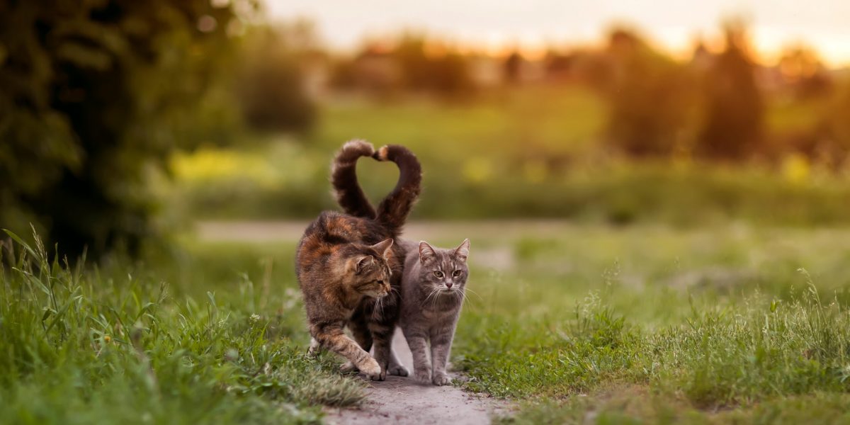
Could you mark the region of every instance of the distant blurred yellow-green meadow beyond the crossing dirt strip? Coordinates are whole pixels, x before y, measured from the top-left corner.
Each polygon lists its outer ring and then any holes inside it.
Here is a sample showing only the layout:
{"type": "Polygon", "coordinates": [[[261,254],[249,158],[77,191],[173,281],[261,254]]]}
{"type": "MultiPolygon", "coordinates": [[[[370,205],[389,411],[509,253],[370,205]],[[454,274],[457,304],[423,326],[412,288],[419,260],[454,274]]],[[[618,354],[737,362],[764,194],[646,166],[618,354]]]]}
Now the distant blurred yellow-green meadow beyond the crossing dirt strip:
{"type": "MultiPolygon", "coordinates": [[[[686,226],[729,219],[846,224],[850,218],[847,176],[810,167],[802,157],[778,167],[723,167],[612,156],[599,147],[604,108],[578,87],[506,90],[456,104],[337,100],[323,106],[312,134],[179,157],[167,204],[184,207],[192,218],[309,218],[334,207],[326,195],[331,156],[345,140],[365,138],[405,144],[419,156],[425,173],[414,218],[686,226]]],[[[777,122],[789,122],[782,117],[789,113],[771,109],[777,122]]],[[[397,178],[388,164],[358,167],[375,201],[397,178]]]]}

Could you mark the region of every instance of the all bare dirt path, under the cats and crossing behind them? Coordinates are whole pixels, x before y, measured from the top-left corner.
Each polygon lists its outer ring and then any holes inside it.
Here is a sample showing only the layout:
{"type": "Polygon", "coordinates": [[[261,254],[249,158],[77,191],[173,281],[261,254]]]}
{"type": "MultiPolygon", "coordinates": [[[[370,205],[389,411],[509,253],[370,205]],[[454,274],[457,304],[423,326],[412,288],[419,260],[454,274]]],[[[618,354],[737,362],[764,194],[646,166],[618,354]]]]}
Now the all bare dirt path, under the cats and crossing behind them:
{"type": "MultiPolygon", "coordinates": [[[[495,221],[484,223],[411,223],[405,226],[405,237],[422,239],[457,239],[475,235],[547,234],[568,224],[559,222],[495,221]]],[[[195,229],[201,241],[297,241],[307,222],[215,222],[197,223],[195,229]]],[[[490,236],[492,237],[492,236],[490,236]]],[[[476,263],[497,268],[513,263],[510,252],[499,249],[478,249],[476,263]],[[488,259],[490,258],[490,259],[488,259]]],[[[463,320],[463,318],[461,318],[463,320]]],[[[393,348],[399,360],[413,372],[413,357],[401,331],[396,330],[393,348]]],[[[450,374],[459,377],[457,374],[450,374]]],[[[507,413],[502,401],[472,394],[454,386],[420,385],[412,377],[387,377],[383,382],[369,382],[367,399],[359,409],[327,409],[327,422],[349,425],[367,423],[399,424],[467,424],[490,423],[494,413],[507,413]]]]}

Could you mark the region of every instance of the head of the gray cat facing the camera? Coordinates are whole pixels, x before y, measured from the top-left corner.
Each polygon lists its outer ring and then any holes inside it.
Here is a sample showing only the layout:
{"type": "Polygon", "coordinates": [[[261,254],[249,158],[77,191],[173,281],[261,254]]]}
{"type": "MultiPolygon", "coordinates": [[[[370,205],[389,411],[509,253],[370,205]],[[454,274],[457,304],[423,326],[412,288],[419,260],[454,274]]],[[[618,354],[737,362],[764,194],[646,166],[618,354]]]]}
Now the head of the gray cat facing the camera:
{"type": "Polygon", "coordinates": [[[419,281],[428,289],[443,292],[463,291],[469,269],[469,240],[454,249],[434,248],[428,242],[419,242],[419,281]]]}

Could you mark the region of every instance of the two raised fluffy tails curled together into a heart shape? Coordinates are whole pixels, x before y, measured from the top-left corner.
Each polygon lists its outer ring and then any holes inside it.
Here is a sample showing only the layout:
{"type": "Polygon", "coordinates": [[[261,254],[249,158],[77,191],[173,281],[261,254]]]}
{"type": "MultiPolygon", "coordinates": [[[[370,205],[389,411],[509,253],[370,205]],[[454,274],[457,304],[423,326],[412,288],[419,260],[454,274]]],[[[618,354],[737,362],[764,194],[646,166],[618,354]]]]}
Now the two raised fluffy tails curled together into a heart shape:
{"type": "Polygon", "coordinates": [[[398,235],[422,190],[422,166],[411,150],[399,144],[388,144],[376,151],[364,140],[351,140],[343,144],[334,158],[331,184],[343,211],[355,217],[377,219],[393,235],[398,235]],[[399,181],[393,191],[378,204],[377,211],[357,181],[356,165],[360,156],[371,156],[377,161],[393,161],[399,167],[399,181]]]}

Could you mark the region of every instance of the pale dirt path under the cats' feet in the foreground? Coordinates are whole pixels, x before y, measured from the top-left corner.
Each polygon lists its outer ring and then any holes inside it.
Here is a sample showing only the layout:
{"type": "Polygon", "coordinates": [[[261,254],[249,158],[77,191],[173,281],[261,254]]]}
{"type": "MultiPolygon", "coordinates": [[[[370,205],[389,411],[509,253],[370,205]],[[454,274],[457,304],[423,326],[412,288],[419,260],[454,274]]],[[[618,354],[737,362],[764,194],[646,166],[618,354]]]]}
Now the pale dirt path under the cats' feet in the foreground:
{"type": "MultiPolygon", "coordinates": [[[[396,330],[393,348],[407,369],[413,371],[413,358],[401,331],[396,330]]],[[[457,377],[456,374],[451,374],[457,377]]],[[[360,409],[328,409],[328,423],[466,424],[490,423],[490,415],[501,411],[495,399],[471,394],[447,385],[420,385],[412,377],[387,377],[370,382],[368,399],[360,409]]]]}

